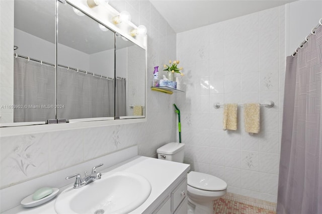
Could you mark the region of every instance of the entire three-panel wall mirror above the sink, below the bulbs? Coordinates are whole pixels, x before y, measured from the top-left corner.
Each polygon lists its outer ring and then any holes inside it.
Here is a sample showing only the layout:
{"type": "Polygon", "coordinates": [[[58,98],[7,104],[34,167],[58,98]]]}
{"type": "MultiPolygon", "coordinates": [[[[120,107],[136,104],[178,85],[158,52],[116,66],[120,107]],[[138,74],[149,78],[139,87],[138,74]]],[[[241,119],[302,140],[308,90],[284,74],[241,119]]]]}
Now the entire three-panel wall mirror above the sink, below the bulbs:
{"type": "Polygon", "coordinates": [[[1,126],[145,117],[146,50],[68,2],[14,0],[14,45],[1,126]]]}

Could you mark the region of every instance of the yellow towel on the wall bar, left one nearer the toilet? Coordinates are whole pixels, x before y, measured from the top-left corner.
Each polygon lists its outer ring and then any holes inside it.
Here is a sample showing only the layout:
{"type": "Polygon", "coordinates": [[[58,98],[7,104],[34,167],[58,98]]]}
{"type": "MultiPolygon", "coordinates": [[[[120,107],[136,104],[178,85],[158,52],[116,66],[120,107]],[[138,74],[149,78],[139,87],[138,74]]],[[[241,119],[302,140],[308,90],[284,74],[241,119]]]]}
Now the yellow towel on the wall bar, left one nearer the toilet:
{"type": "Polygon", "coordinates": [[[223,105],[223,130],[237,130],[237,104],[223,105]]]}

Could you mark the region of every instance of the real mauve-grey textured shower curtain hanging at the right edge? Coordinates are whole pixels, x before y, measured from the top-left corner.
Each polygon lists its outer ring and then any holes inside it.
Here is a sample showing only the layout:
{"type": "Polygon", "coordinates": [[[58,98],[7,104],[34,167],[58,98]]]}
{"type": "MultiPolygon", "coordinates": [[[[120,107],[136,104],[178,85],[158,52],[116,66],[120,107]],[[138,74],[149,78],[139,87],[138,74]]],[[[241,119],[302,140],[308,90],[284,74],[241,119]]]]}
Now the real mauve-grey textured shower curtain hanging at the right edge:
{"type": "Polygon", "coordinates": [[[322,27],[287,57],[277,213],[322,213],[322,27]]]}

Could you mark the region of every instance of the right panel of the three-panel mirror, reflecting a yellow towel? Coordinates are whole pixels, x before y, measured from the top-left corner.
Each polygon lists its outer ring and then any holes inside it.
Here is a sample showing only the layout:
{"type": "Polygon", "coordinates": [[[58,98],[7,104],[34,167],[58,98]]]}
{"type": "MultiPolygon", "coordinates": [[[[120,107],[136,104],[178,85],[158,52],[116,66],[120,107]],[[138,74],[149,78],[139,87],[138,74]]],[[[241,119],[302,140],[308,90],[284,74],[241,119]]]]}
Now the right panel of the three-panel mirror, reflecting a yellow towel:
{"type": "Polygon", "coordinates": [[[122,36],[115,38],[115,117],[120,119],[144,118],[145,50],[122,36]]]}

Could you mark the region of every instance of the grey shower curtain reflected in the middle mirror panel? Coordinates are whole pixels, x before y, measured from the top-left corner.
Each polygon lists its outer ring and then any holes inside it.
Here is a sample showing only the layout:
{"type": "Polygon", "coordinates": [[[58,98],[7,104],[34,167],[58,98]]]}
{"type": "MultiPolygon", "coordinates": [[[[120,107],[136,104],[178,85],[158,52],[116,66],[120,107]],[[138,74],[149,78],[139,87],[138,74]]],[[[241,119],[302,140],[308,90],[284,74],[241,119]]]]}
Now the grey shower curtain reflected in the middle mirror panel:
{"type": "Polygon", "coordinates": [[[58,67],[58,118],[114,117],[113,80],[58,67]]]}

